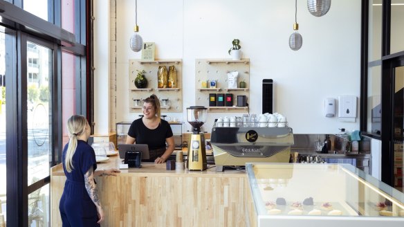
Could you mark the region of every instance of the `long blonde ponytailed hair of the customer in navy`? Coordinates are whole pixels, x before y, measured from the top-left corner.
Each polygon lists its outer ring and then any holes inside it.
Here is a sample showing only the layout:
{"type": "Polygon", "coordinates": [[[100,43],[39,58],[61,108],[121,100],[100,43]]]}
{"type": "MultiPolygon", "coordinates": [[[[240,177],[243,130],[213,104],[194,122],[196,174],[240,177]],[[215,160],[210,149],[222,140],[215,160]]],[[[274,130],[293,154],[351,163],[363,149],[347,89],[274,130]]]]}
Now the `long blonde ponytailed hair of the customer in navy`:
{"type": "Polygon", "coordinates": [[[74,169],[72,160],[77,148],[77,136],[82,134],[86,129],[86,122],[86,118],[82,115],[73,115],[67,120],[68,137],[70,138],[64,159],[67,172],[71,172],[74,169]]]}

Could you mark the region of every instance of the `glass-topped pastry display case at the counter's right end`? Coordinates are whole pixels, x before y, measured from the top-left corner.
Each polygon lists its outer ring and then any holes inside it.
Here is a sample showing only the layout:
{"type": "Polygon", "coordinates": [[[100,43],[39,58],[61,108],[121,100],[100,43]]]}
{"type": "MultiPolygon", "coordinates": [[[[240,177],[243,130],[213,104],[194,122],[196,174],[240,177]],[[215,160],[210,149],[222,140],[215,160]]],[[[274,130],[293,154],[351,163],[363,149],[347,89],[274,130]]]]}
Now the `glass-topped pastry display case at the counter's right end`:
{"type": "Polygon", "coordinates": [[[257,226],[404,226],[404,194],[348,164],[247,163],[257,226]]]}

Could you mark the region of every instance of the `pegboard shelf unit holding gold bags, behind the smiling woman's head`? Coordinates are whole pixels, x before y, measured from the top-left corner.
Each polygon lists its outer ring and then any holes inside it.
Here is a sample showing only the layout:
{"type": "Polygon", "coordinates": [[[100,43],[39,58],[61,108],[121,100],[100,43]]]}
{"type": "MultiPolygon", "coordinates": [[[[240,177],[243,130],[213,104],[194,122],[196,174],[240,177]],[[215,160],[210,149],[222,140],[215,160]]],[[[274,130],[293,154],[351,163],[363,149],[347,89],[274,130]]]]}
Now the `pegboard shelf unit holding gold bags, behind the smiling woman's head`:
{"type": "Polygon", "coordinates": [[[142,113],[142,107],[135,106],[134,100],[144,100],[145,98],[156,94],[160,100],[160,107],[162,112],[165,113],[182,113],[183,111],[183,94],[181,92],[182,87],[182,61],[181,59],[165,59],[156,61],[144,61],[144,60],[129,60],[129,112],[130,113],[142,113]],[[158,67],[165,66],[167,71],[169,66],[175,66],[177,72],[177,87],[159,89],[157,87],[157,73],[158,67]],[[135,87],[134,80],[138,71],[146,71],[147,88],[138,89],[135,87]],[[163,107],[163,99],[169,99],[169,106],[163,107]]]}

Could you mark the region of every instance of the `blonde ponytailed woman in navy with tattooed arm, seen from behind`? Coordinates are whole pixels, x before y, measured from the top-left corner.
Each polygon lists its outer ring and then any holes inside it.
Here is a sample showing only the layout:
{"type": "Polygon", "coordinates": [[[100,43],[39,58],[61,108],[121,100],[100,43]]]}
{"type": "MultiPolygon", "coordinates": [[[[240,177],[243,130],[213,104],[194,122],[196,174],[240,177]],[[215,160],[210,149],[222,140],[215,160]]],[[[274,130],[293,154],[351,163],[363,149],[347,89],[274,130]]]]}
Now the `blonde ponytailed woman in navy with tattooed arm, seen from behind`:
{"type": "Polygon", "coordinates": [[[119,170],[96,170],[97,162],[93,147],[86,143],[90,137],[90,125],[82,115],[67,120],[69,141],[64,146],[62,163],[66,183],[59,211],[63,226],[100,226],[104,212],[94,177],[116,176],[119,170]]]}

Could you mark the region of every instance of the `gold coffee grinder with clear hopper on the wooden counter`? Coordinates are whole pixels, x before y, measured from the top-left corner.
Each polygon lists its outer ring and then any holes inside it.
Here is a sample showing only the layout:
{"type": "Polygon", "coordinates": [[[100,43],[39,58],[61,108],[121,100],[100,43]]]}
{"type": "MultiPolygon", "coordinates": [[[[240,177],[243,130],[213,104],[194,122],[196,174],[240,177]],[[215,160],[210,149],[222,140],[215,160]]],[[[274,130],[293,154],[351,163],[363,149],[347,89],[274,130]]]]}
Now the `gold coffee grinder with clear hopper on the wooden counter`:
{"type": "Polygon", "coordinates": [[[207,109],[205,107],[188,107],[187,120],[192,125],[190,143],[188,143],[188,170],[206,170],[205,136],[201,132],[201,126],[205,123],[207,109]]]}

